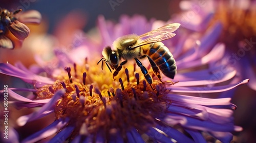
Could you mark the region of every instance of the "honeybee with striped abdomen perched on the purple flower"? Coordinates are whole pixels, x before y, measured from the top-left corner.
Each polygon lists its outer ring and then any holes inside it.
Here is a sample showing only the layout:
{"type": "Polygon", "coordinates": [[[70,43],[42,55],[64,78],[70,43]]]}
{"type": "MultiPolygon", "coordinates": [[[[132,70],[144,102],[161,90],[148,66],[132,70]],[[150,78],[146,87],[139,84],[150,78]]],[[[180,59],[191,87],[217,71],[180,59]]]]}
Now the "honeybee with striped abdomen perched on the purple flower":
{"type": "Polygon", "coordinates": [[[118,75],[122,66],[128,60],[134,59],[140,67],[146,81],[151,85],[153,83],[152,77],[139,60],[147,58],[148,61],[150,61],[154,74],[160,81],[162,77],[159,69],[166,77],[174,79],[177,73],[175,59],[173,54],[170,53],[169,49],[161,41],[174,37],[176,34],[173,32],[176,31],[179,26],[180,23],[171,23],[139,36],[136,34],[122,36],[113,42],[115,50],[112,50],[110,46],[106,46],[103,49],[103,57],[97,64],[102,61],[101,68],[103,69],[104,61],[110,71],[111,68],[113,70],[115,69],[113,73],[113,79],[115,79],[115,76],[118,75]]]}

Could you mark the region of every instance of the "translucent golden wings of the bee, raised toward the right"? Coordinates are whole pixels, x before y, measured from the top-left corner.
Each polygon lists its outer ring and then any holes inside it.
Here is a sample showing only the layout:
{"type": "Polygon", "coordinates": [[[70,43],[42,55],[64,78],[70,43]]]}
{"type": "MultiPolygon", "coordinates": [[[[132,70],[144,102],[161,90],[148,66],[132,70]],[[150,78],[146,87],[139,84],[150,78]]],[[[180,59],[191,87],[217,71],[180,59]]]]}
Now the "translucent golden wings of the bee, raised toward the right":
{"type": "Polygon", "coordinates": [[[138,38],[142,40],[139,43],[133,45],[132,48],[172,38],[176,35],[173,32],[176,31],[179,27],[180,27],[180,23],[171,23],[171,24],[162,26],[158,29],[155,29],[153,31],[142,34],[138,36],[138,38]]]}

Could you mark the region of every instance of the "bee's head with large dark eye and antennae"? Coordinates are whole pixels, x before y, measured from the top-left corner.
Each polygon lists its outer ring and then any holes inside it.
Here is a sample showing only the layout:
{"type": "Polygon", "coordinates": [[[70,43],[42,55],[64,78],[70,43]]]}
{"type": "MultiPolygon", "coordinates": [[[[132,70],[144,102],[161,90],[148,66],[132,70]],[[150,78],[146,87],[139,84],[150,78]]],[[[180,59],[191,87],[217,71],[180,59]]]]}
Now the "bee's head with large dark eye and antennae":
{"type": "MultiPolygon", "coordinates": [[[[101,64],[102,69],[103,69],[103,61],[105,61],[106,66],[108,66],[109,69],[110,69],[109,65],[111,66],[112,69],[117,68],[119,63],[119,54],[117,51],[112,51],[110,46],[106,46],[102,51],[102,55],[103,55],[103,58],[101,58],[100,60],[102,61],[102,64],[101,64]]],[[[110,69],[110,72],[112,72],[111,69],[110,69]]]]}

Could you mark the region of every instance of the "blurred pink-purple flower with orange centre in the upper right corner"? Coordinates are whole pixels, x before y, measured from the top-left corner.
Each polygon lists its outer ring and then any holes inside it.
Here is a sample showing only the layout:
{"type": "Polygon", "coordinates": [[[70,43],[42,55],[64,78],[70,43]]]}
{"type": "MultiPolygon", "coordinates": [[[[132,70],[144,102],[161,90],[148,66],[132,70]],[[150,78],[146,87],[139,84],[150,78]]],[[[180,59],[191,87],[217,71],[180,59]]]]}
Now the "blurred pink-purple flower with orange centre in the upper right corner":
{"type": "Polygon", "coordinates": [[[255,1],[181,1],[182,12],[174,15],[184,28],[202,32],[216,22],[223,30],[216,42],[226,46],[225,60],[236,68],[234,81],[250,78],[248,86],[256,90],[255,1]],[[246,69],[246,70],[244,70],[246,69]]]}

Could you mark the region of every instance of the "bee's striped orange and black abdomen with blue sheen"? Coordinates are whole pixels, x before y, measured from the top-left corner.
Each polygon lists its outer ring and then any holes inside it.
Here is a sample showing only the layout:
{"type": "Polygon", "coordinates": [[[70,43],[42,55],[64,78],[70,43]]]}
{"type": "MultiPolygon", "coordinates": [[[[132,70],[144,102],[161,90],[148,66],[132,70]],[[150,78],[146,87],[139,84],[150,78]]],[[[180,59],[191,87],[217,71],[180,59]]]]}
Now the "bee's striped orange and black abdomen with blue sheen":
{"type": "Polygon", "coordinates": [[[148,55],[166,77],[174,79],[177,67],[173,54],[162,42],[152,43],[150,46],[150,49],[142,48],[143,54],[148,55]]]}

